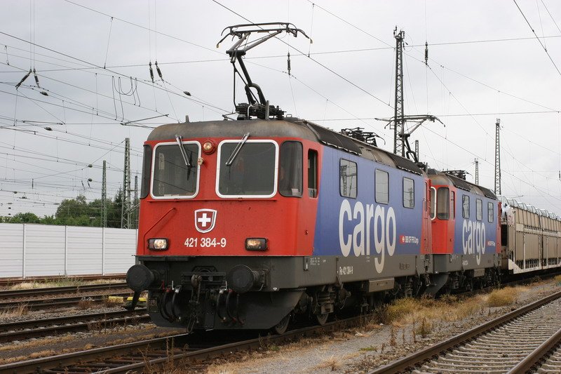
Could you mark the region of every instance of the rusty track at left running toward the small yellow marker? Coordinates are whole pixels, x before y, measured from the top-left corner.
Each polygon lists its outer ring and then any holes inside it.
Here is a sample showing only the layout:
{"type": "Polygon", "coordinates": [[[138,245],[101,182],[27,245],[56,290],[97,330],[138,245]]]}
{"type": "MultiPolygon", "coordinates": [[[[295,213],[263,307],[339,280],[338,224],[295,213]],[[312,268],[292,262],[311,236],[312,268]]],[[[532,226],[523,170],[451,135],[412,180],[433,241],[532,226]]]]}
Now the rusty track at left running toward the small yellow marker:
{"type": "Polygon", "coordinates": [[[100,302],[107,298],[104,291],[115,290],[114,296],[129,296],[133,293],[128,290],[126,283],[91,284],[84,286],[67,286],[53,288],[32,288],[28,290],[2,290],[0,291],[0,310],[14,309],[25,306],[29,310],[44,309],[49,307],[68,307],[78,305],[84,300],[100,302]],[[53,298],[56,295],[76,294],[66,297],[53,298]],[[36,296],[50,296],[50,298],[33,298],[36,296]]]}

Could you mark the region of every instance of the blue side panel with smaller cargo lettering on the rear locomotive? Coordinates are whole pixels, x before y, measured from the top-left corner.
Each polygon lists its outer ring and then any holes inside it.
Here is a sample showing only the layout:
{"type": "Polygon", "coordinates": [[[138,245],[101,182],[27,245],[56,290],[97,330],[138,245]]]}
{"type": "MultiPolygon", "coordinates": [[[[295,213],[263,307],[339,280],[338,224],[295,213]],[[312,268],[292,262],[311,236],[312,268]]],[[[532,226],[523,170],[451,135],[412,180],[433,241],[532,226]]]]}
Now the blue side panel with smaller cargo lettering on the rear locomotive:
{"type": "Polygon", "coordinates": [[[481,255],[496,253],[499,204],[495,199],[461,189],[457,190],[457,194],[454,253],[475,255],[480,265],[481,255]]]}

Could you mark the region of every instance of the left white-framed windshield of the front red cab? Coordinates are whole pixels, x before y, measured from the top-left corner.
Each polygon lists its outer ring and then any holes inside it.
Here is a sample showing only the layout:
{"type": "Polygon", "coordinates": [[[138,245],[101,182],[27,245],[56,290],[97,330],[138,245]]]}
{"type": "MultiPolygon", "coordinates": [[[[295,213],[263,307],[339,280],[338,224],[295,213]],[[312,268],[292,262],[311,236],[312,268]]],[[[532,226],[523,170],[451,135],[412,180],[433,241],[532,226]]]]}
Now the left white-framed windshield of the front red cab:
{"type": "Polygon", "coordinates": [[[177,143],[156,146],[152,180],[154,197],[192,197],[196,194],[198,143],[184,142],[182,145],[187,154],[189,166],[185,164],[182,149],[177,146],[177,143]]]}

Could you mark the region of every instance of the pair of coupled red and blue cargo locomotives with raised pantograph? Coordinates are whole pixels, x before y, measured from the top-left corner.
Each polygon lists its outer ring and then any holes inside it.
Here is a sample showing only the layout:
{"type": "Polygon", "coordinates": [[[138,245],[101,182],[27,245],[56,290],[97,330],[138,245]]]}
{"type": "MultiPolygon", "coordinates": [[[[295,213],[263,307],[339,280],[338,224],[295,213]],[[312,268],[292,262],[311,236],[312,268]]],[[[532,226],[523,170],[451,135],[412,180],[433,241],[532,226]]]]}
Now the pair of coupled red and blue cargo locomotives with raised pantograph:
{"type": "MultiPolygon", "coordinates": [[[[283,116],[243,65],[256,44],[241,41],[270,25],[250,26],[229,33],[249,100],[238,120],[168,124],[144,143],[127,281],[135,301],[149,291],[152,320],[282,333],[292,316],[325,323],[341,309],[496,281],[496,196],[379,149],[372,134],[283,116]]],[[[275,26],[266,37],[301,32],[275,26]]]]}

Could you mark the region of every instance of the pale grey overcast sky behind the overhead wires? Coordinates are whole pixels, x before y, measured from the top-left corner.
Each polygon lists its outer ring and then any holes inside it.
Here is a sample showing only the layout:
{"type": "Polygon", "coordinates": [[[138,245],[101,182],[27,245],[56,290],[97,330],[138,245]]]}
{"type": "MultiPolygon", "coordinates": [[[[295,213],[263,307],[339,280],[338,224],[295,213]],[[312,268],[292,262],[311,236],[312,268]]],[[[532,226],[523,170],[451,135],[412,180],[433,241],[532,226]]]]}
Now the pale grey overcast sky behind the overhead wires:
{"type": "MultiPolygon", "coordinates": [[[[522,196],[518,200],[561,215],[560,1],[3,5],[0,215],[51,215],[56,203],[80,193],[99,199],[103,160],[108,195],[114,196],[123,182],[126,137],[134,180],[147,127],[186,115],[191,121],[222,119],[233,111],[225,54],[232,40],[216,44],[224,27],[248,21],[292,22],[313,39],[310,44],[301,35],[284,35],[248,53],[252,79],[271,104],[335,130],[374,131],[389,150],[393,132],[374,118],[393,116],[393,29],[403,29],[405,114],[433,114],[445,123],[425,123],[413,133],[421,161],[465,170],[473,182],[477,158],[480,184],[493,189],[499,118],[503,195],[522,196]],[[40,88],[32,74],[16,90],[30,68],[40,88]]],[[[237,87],[236,100],[246,101],[237,87]]]]}

